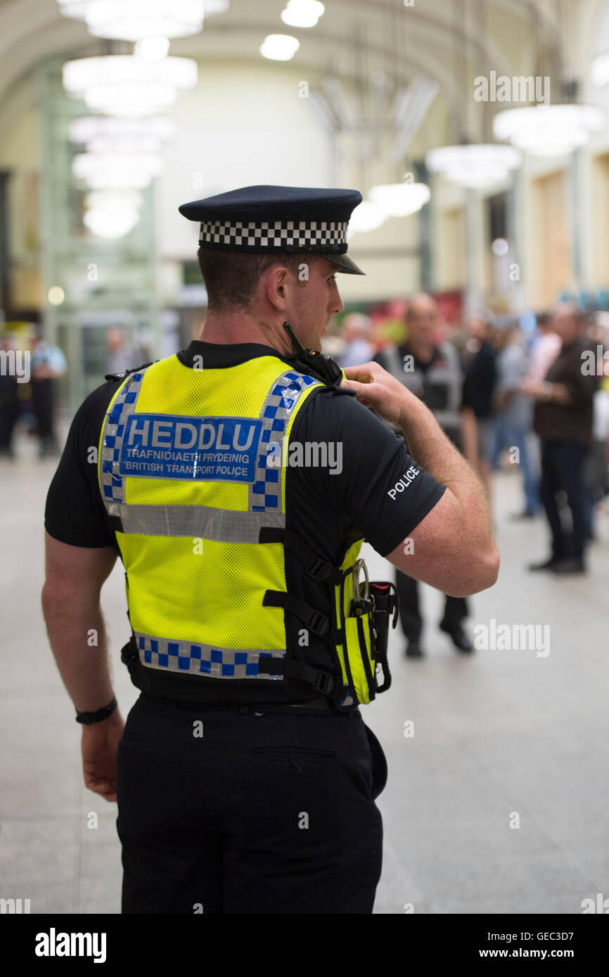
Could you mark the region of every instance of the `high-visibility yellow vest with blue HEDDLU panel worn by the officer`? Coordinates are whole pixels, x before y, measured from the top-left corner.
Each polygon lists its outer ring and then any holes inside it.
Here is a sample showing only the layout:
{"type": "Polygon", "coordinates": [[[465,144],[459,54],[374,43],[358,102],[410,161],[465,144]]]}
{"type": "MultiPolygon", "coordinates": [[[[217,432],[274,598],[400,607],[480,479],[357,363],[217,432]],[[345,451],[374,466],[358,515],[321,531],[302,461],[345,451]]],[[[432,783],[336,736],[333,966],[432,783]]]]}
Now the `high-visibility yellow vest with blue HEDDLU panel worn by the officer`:
{"type": "Polygon", "coordinates": [[[120,383],[100,436],[99,483],[145,668],[217,682],[219,700],[223,680],[289,678],[339,705],[374,698],[371,617],[354,610],[362,539],[346,541],[332,566],[285,529],[282,459],[320,386],[273,356],[218,369],[172,356],[120,383]],[[331,616],[288,593],[287,547],[326,582],[331,616]],[[286,652],[284,612],[327,644],[325,669],[307,662],[306,647],[301,659],[286,652]]]}

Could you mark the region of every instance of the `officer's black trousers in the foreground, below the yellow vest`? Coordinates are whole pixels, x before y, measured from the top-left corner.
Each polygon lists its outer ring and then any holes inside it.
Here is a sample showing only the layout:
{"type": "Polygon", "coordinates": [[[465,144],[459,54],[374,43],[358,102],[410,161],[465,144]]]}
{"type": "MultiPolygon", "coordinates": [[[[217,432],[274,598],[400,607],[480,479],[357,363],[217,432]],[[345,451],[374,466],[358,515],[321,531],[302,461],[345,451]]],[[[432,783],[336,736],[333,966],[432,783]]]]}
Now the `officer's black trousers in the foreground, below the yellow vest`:
{"type": "Polygon", "coordinates": [[[118,744],[122,912],[371,913],[386,779],[359,711],[142,695],[118,744]]]}

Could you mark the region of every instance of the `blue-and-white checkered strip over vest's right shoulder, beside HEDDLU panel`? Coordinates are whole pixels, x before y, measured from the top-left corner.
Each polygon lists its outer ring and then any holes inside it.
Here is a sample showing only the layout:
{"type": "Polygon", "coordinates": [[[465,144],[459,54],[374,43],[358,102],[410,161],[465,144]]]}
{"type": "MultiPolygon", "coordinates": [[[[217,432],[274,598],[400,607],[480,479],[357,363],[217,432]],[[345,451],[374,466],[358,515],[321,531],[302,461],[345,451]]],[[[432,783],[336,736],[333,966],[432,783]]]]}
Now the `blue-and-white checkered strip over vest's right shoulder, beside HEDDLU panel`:
{"type": "Polygon", "coordinates": [[[249,488],[249,512],[282,512],[282,468],[277,463],[267,465],[268,445],[275,442],[283,446],[289,415],[302,392],[314,383],[319,381],[312,376],[287,370],[277,378],[267,394],[260,411],[262,434],[258,443],[256,475],[249,488]]]}

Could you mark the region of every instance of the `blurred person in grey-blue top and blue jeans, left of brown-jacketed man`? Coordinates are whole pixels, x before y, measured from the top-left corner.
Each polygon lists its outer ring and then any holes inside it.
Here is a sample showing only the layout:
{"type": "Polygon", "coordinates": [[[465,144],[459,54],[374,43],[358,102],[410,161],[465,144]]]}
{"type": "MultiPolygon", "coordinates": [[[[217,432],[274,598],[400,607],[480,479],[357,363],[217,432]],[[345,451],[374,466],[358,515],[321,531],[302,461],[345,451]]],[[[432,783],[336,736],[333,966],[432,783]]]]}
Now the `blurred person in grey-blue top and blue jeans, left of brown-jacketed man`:
{"type": "Polygon", "coordinates": [[[528,370],[527,356],[522,344],[522,333],[517,322],[500,330],[496,342],[497,389],[495,406],[496,456],[505,447],[518,449],[518,467],[523,478],[524,509],[514,519],[532,519],[542,509],[539,494],[539,473],[529,452],[527,437],[532,429],[533,404],[530,397],[520,391],[521,381],[528,370]]]}

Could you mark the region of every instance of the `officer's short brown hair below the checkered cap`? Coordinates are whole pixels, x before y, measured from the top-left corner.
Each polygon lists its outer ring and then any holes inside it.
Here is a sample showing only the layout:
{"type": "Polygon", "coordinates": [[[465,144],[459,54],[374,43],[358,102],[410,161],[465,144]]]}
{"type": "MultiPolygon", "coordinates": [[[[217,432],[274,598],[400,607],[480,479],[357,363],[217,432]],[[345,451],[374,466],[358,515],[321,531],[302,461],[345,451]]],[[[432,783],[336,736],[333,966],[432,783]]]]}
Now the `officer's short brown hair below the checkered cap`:
{"type": "MultiPolygon", "coordinates": [[[[298,276],[304,257],[303,254],[246,254],[199,248],[198,267],[207,291],[207,308],[210,312],[250,309],[258,282],[267,269],[283,265],[298,276]]],[[[313,256],[306,257],[310,261],[313,256]]]]}

